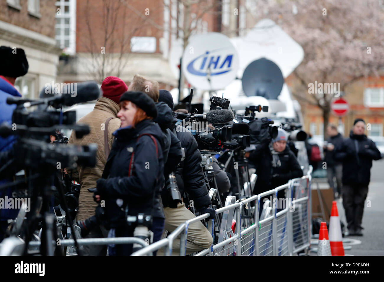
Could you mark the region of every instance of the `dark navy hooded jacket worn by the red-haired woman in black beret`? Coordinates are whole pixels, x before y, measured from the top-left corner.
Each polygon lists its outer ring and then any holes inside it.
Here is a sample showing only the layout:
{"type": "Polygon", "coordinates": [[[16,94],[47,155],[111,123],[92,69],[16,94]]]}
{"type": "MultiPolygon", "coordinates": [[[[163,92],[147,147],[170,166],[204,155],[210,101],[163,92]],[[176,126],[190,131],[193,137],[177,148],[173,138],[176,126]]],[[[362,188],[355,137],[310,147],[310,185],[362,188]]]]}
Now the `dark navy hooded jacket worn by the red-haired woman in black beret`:
{"type": "Polygon", "coordinates": [[[116,228],[125,224],[126,204],[129,215],[144,213],[164,218],[160,198],[164,186],[164,135],[159,125],[146,119],[139,122],[136,128],[116,130],[114,136],[116,139],[103,176],[97,181],[101,200],[105,200],[109,227],[116,228]],[[148,135],[141,136],[137,141],[142,134],[151,134],[156,145],[148,135]],[[118,199],[124,200],[124,203],[118,199]]]}

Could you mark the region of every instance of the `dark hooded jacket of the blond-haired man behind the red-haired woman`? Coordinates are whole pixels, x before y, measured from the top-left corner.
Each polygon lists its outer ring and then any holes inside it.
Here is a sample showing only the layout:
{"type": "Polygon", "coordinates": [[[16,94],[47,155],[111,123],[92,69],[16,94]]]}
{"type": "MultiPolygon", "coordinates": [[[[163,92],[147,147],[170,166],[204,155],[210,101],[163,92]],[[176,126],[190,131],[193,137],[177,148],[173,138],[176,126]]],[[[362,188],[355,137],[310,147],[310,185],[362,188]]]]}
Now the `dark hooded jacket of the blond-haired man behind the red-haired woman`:
{"type": "Polygon", "coordinates": [[[154,122],[159,124],[164,134],[164,176],[167,179],[171,172],[176,172],[177,165],[182,158],[181,145],[179,139],[169,129],[174,120],[170,107],[164,102],[157,102],[156,110],[157,117],[154,122]]]}

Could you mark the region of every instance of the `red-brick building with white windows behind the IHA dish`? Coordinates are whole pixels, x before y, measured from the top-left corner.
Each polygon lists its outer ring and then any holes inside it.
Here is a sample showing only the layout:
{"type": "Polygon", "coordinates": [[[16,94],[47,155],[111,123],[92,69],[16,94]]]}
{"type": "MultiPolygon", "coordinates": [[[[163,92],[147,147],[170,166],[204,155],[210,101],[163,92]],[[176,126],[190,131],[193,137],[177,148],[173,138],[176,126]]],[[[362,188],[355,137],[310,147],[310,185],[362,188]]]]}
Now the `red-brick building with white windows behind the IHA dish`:
{"type": "Polygon", "coordinates": [[[128,84],[134,74],[141,74],[159,81],[161,88],[177,87],[169,58],[183,36],[185,13],[192,20],[191,34],[238,36],[247,23],[245,2],[250,5],[243,0],[201,0],[186,12],[177,0],[57,1],[57,8],[64,6],[67,13],[65,19],[56,16],[56,40],[68,54],[61,57],[58,81],[101,83],[114,75],[128,84]]]}

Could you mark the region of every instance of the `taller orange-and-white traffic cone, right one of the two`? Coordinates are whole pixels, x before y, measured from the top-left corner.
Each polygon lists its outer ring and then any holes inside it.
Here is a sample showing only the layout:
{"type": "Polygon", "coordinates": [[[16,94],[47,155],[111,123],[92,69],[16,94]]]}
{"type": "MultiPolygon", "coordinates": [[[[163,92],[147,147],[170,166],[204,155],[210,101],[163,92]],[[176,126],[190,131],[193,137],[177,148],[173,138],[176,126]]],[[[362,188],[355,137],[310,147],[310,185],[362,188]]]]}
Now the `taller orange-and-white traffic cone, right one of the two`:
{"type": "Polygon", "coordinates": [[[336,201],[332,202],[331,218],[329,219],[329,242],[332,256],[344,256],[343,236],[336,201]]]}

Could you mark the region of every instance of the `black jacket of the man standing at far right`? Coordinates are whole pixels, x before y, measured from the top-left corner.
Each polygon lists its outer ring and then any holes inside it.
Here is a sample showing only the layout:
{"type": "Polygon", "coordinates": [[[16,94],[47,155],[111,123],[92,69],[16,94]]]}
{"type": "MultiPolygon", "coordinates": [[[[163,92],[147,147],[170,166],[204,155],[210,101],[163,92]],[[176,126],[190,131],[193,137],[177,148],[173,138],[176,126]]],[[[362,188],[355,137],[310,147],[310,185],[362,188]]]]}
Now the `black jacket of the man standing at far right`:
{"type": "Polygon", "coordinates": [[[375,143],[366,135],[355,135],[352,130],[336,147],[336,160],[343,162],[343,184],[368,186],[372,160],[381,158],[375,143]]]}

